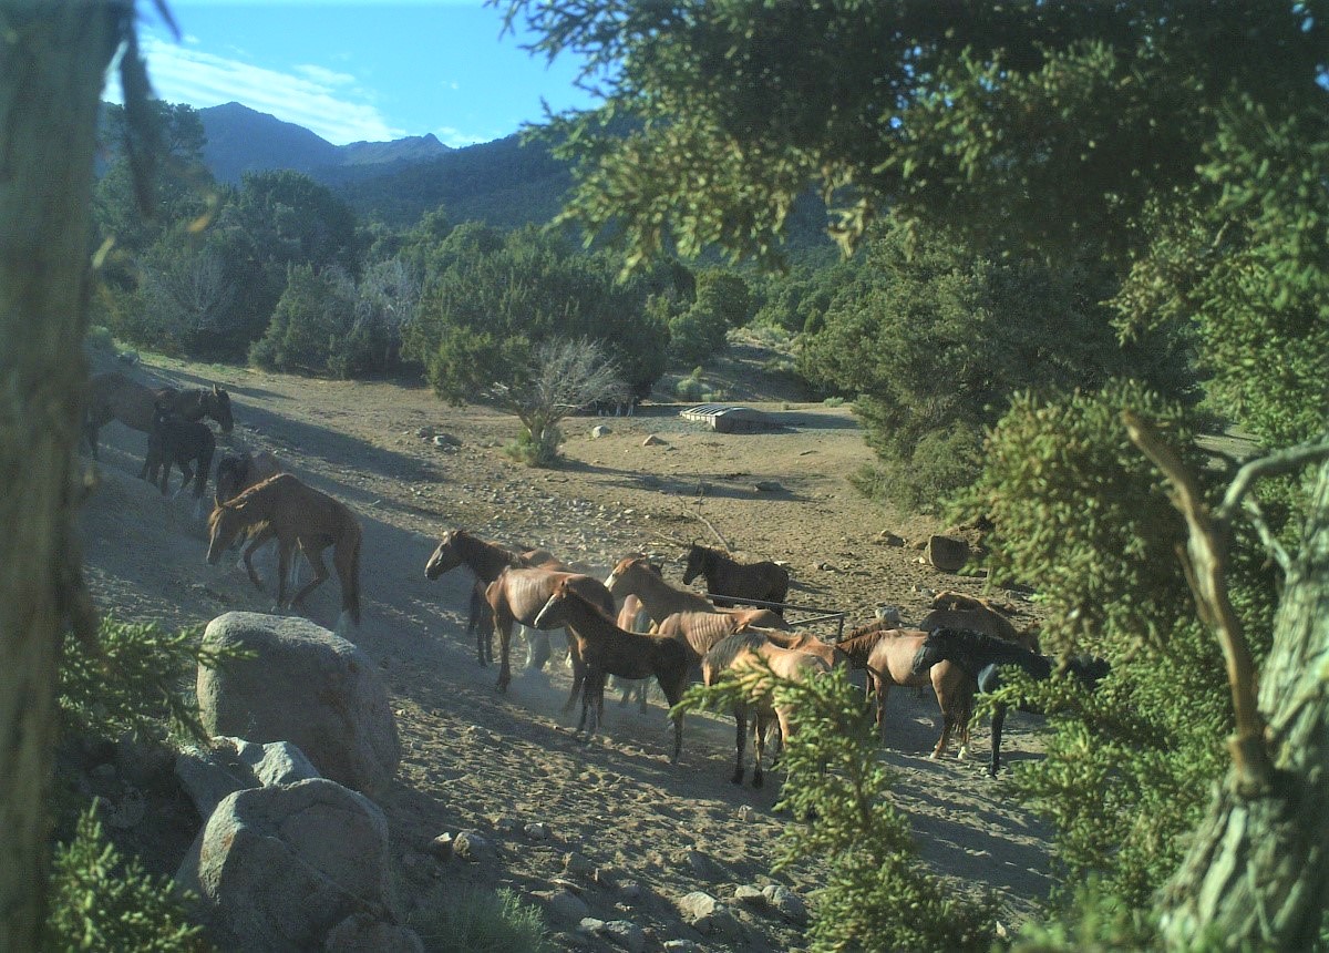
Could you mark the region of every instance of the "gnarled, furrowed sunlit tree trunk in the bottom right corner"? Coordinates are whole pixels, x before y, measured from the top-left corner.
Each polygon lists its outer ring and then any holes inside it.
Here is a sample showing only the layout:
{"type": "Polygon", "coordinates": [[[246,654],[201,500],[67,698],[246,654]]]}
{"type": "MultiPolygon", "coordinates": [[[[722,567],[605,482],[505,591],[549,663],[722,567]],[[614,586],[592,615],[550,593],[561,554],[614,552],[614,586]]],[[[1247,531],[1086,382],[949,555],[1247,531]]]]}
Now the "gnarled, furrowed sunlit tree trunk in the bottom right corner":
{"type": "Polygon", "coordinates": [[[1312,492],[1264,665],[1260,711],[1273,791],[1243,797],[1229,775],[1163,893],[1172,946],[1310,949],[1329,902],[1329,464],[1312,492]]]}

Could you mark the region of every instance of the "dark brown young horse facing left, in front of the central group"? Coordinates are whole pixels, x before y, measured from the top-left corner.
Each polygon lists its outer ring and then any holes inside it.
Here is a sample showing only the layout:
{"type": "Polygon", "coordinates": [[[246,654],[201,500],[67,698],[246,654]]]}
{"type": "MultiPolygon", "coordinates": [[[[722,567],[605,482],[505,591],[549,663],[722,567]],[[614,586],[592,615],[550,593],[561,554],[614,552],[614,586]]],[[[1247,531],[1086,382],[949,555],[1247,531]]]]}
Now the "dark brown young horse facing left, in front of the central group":
{"type": "MultiPolygon", "coordinates": [[[[541,570],[509,570],[541,572],[541,570]]],[[[586,665],[586,681],[582,688],[582,715],[577,731],[586,726],[589,742],[599,727],[605,712],[605,678],[650,678],[661,686],[670,708],[678,704],[687,687],[687,651],[675,639],[651,633],[634,633],[619,629],[610,614],[577,589],[577,576],[557,573],[544,607],[536,615],[536,625],[549,625],[554,618],[566,625],[581,643],[581,657],[586,665]]],[[[587,577],[579,577],[587,578],[587,577]]],[[[497,583],[496,583],[497,585],[497,583]]],[[[674,715],[674,755],[678,762],[683,750],[683,719],[674,715]]]]}

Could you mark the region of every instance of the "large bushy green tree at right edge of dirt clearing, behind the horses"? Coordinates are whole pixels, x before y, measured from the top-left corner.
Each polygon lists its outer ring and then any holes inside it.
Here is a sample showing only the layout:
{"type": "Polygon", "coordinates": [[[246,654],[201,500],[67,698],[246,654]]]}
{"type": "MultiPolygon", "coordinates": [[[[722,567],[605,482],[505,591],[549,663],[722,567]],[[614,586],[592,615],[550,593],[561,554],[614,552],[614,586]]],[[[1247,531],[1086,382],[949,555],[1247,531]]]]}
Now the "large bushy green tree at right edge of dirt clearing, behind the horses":
{"type": "Polygon", "coordinates": [[[880,460],[870,486],[905,506],[936,502],[978,475],[982,428],[1017,391],[1099,387],[1118,373],[1170,393],[1185,385],[1164,334],[1118,344],[1096,303],[1112,287],[1090,268],[989,261],[894,227],[839,270],[799,364],[813,384],[859,395],[880,460]]]}

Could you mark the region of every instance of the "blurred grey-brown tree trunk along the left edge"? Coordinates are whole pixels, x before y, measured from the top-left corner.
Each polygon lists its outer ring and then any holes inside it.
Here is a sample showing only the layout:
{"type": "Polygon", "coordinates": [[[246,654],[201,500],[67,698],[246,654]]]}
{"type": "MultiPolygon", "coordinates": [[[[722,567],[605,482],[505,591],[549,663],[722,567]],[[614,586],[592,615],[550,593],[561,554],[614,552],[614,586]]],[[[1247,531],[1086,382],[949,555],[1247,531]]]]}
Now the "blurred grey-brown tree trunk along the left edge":
{"type": "Polygon", "coordinates": [[[128,5],[0,0],[0,952],[39,946],[102,77],[128,5]]]}

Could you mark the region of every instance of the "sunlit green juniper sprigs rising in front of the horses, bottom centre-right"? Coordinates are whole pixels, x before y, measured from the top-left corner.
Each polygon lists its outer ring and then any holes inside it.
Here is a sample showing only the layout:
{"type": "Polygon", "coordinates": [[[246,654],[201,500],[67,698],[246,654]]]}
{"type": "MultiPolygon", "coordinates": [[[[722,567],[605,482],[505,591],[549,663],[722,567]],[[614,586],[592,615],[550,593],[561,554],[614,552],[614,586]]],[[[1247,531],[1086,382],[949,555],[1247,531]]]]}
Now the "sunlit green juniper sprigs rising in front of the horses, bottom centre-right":
{"type": "Polygon", "coordinates": [[[957,895],[917,857],[909,823],[888,796],[890,774],[878,759],[872,715],[843,670],[789,682],[754,669],[711,687],[690,686],[676,710],[762,696],[789,706],[796,726],[776,805],[796,820],[780,835],[776,869],[805,857],[829,868],[812,897],[809,949],[987,949],[994,900],[957,895]]]}

